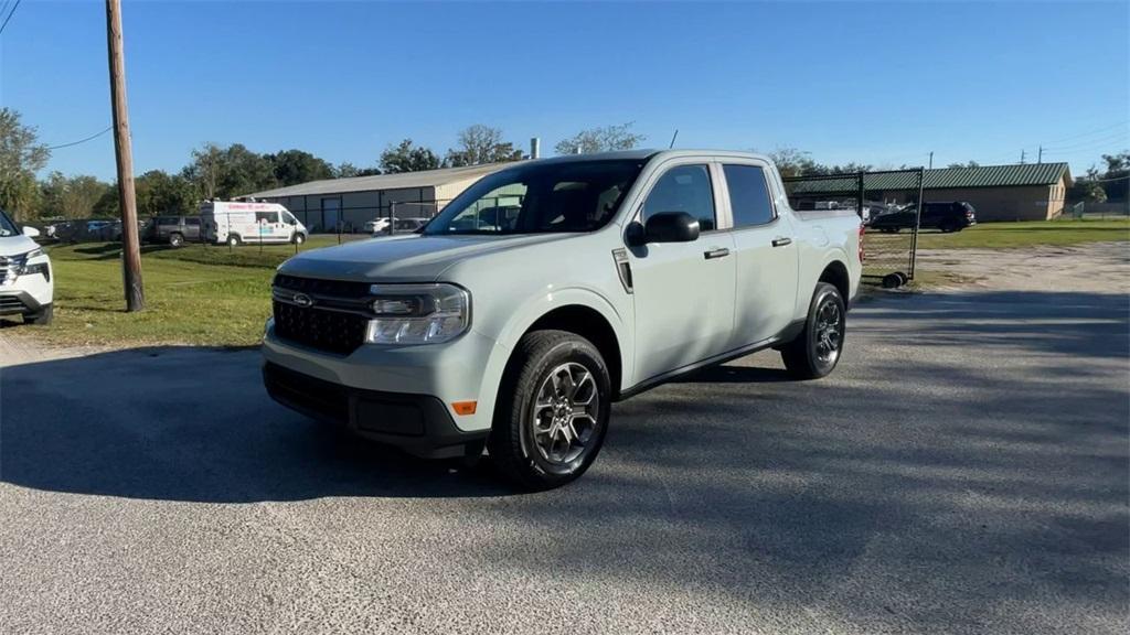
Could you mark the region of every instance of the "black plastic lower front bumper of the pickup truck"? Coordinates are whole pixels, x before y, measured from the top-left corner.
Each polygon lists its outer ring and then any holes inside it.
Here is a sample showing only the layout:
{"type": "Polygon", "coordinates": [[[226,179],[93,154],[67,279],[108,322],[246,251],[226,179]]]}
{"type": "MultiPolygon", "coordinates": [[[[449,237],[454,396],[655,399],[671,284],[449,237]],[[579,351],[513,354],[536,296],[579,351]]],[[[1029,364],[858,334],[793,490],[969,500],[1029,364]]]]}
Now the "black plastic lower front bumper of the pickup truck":
{"type": "Polygon", "coordinates": [[[417,456],[476,454],[487,436],[486,430],[459,429],[447,407],[429,394],[349,388],[270,362],[263,364],[263,384],[271,399],[288,408],[417,456]]]}

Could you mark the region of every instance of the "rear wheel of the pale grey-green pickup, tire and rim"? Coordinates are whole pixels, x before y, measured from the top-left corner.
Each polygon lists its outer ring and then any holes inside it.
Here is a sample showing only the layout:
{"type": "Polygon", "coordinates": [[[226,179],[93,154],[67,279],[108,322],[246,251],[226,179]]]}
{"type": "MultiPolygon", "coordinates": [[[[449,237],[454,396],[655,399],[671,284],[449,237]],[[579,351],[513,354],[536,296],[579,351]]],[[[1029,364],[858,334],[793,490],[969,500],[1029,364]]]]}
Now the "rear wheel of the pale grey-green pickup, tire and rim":
{"type": "Polygon", "coordinates": [[[840,290],[827,282],[817,282],[805,330],[781,349],[781,358],[790,375],[798,380],[817,380],[836,367],[843,356],[846,316],[846,305],[840,290]],[[832,312],[836,315],[836,325],[828,331],[824,324],[832,312]],[[824,339],[825,334],[828,340],[824,339]]]}

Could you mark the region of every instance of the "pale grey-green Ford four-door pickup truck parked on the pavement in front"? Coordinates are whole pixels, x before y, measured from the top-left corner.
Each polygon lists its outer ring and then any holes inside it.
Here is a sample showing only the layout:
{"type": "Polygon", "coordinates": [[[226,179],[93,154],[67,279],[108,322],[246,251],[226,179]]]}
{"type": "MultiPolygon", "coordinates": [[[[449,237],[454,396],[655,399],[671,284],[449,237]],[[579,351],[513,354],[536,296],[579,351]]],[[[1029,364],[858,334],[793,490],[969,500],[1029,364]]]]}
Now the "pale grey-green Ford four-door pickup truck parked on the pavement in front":
{"type": "Polygon", "coordinates": [[[860,237],[852,210],[791,210],[759,155],[524,162],[418,234],[286,261],[263,379],[364,437],[433,458],[489,446],[520,486],[556,487],[596,460],[614,401],[764,348],[796,377],[831,373],[860,237]],[[466,228],[501,189],[527,192],[516,216],[466,228]]]}

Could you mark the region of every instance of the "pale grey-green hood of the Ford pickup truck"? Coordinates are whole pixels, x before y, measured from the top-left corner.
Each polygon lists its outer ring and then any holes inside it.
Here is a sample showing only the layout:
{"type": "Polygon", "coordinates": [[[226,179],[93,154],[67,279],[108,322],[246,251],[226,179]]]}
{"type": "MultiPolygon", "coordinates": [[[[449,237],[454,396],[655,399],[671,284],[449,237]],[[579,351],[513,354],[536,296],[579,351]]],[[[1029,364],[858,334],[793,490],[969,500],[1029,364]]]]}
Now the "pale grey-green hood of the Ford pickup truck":
{"type": "Polygon", "coordinates": [[[279,272],[332,280],[433,281],[457,262],[521,246],[566,240],[573,234],[519,236],[425,236],[411,234],[311,250],[282,263],[279,272]]]}

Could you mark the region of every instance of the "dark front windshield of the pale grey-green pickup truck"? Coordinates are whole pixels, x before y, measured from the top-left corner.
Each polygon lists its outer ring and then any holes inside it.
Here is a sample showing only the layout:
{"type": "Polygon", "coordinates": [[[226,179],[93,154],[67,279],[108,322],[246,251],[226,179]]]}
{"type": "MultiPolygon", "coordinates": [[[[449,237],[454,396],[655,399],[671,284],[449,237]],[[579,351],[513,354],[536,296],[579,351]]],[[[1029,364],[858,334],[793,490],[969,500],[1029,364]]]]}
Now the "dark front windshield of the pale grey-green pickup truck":
{"type": "Polygon", "coordinates": [[[451,201],[424,234],[592,232],[616,216],[645,160],[531,163],[492,174],[451,201]]]}

